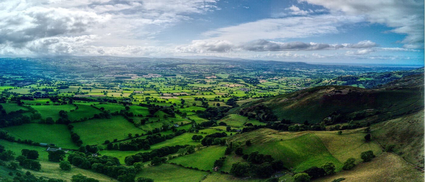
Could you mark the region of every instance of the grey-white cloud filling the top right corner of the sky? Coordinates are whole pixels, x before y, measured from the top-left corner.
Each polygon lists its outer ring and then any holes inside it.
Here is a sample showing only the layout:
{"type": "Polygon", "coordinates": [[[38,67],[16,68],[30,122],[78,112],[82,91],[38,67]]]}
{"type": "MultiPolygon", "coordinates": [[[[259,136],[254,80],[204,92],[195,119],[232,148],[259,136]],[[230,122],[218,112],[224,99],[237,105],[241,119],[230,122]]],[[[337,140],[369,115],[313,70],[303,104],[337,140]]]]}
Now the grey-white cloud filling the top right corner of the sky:
{"type": "Polygon", "coordinates": [[[364,15],[373,23],[393,27],[392,32],[407,34],[404,48],[424,48],[423,0],[302,0],[333,11],[364,15]]]}

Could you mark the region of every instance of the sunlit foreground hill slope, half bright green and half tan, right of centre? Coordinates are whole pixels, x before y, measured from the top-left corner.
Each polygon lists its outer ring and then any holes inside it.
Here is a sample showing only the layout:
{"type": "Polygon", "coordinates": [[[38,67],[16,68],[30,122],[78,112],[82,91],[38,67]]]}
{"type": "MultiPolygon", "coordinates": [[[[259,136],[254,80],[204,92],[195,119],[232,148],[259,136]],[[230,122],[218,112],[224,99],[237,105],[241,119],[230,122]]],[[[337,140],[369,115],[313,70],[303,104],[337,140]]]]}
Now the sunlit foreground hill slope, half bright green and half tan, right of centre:
{"type": "MultiPolygon", "coordinates": [[[[245,143],[251,140],[253,145],[244,147],[244,153],[260,151],[283,160],[285,167],[295,172],[303,171],[311,166],[320,166],[327,161],[333,162],[337,171],[349,157],[360,162],[360,153],[373,150],[375,154],[382,152],[375,141],[364,141],[363,129],[336,132],[279,132],[272,129],[259,129],[231,137],[230,141],[245,143]]],[[[229,155],[223,170],[229,170],[236,156],[229,155]]]]}

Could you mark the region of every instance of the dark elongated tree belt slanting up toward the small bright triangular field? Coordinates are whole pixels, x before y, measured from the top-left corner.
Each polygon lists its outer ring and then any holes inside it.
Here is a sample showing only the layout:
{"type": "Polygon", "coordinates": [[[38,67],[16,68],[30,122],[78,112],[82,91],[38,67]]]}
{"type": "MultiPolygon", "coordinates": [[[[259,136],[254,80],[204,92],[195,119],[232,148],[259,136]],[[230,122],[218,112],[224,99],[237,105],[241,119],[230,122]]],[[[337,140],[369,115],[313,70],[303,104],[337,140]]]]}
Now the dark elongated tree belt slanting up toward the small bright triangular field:
{"type": "Polygon", "coordinates": [[[130,155],[125,157],[125,164],[127,165],[133,165],[135,162],[147,162],[150,160],[153,160],[155,157],[161,158],[164,156],[167,156],[169,154],[173,154],[178,152],[179,149],[181,148],[186,148],[189,145],[184,145],[184,146],[165,146],[162,148],[157,148],[154,149],[150,152],[140,152],[138,154],[135,155],[130,155]]]}

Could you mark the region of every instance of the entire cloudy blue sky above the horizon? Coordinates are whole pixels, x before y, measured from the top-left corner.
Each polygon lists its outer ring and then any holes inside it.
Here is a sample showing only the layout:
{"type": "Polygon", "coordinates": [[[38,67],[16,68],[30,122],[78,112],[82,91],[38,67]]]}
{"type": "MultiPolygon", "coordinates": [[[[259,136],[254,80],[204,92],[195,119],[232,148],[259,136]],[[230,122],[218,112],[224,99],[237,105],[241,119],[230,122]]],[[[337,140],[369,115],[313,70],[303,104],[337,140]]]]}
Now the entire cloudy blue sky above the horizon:
{"type": "Polygon", "coordinates": [[[0,57],[424,65],[423,0],[2,0],[0,57]]]}

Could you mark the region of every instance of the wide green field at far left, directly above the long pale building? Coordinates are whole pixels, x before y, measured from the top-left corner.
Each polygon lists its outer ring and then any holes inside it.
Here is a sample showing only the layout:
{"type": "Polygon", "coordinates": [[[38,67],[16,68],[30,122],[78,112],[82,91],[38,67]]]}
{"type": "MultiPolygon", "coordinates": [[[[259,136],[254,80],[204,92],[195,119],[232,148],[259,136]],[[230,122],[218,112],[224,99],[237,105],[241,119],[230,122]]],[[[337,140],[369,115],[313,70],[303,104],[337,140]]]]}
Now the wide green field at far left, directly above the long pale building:
{"type": "Polygon", "coordinates": [[[3,128],[16,139],[32,140],[38,143],[54,143],[62,148],[77,148],[71,141],[71,134],[64,124],[28,123],[3,128]]]}

